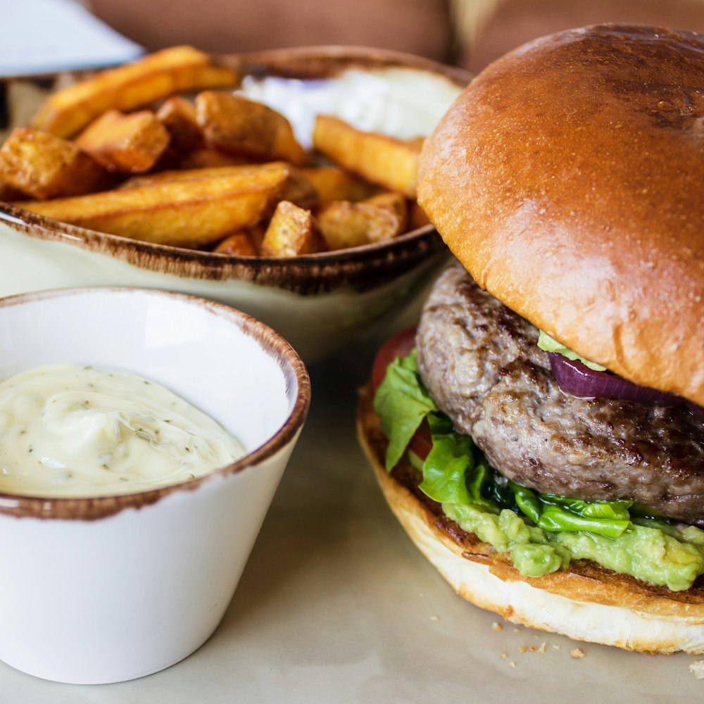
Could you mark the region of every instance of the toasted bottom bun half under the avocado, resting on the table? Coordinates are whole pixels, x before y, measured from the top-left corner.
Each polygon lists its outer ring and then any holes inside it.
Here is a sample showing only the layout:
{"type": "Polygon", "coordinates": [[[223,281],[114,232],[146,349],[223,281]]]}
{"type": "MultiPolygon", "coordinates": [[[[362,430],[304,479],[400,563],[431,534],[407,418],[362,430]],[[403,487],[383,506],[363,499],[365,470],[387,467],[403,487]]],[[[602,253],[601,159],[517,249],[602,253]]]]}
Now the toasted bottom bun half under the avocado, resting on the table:
{"type": "Polygon", "coordinates": [[[513,623],[643,653],[704,653],[704,588],[653,586],[588,560],[543,577],[524,577],[506,555],[449,520],[440,505],[417,489],[420,474],[402,460],[384,470],[386,438],[360,391],[360,444],[389,507],[417,548],[453,589],[471,603],[513,623]]]}

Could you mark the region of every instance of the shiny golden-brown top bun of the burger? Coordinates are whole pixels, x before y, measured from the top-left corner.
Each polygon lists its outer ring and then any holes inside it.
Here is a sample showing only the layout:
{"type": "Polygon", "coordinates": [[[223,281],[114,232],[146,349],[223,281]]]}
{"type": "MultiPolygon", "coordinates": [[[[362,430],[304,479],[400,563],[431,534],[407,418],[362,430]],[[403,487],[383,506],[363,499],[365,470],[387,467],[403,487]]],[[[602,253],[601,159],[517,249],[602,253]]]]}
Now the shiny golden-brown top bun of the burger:
{"type": "Polygon", "coordinates": [[[601,25],[522,46],[455,101],[418,177],[480,286],[704,406],[704,36],[601,25]]]}

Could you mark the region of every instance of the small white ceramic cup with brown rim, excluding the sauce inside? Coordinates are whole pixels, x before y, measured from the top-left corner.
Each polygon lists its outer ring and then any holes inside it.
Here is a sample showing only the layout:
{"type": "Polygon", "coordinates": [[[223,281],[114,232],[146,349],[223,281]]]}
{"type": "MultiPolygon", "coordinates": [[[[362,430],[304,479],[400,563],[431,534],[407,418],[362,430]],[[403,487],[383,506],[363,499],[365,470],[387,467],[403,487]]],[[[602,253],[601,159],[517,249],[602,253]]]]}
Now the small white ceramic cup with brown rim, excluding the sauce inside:
{"type": "Polygon", "coordinates": [[[236,436],[244,458],[139,494],[0,494],[0,659],[55,681],[142,677],[227,608],[310,401],[296,352],[220,303],[144,289],[0,300],[0,379],[34,365],[132,370],[236,436]]]}

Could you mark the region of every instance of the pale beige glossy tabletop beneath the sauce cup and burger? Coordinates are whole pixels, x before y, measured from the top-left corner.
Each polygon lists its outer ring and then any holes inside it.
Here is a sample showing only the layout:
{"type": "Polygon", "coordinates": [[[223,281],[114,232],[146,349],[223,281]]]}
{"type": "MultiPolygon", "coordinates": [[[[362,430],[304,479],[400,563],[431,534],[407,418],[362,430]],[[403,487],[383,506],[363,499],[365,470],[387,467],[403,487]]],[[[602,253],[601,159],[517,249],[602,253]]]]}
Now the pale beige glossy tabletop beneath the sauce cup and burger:
{"type": "Polygon", "coordinates": [[[456,596],[384,503],[355,432],[375,341],[313,367],[313,403],[225,619],[186,660],[102,686],[0,663],[2,704],[658,702],[704,696],[691,655],[574,643],[456,596]],[[583,658],[573,658],[579,648],[583,658]]]}

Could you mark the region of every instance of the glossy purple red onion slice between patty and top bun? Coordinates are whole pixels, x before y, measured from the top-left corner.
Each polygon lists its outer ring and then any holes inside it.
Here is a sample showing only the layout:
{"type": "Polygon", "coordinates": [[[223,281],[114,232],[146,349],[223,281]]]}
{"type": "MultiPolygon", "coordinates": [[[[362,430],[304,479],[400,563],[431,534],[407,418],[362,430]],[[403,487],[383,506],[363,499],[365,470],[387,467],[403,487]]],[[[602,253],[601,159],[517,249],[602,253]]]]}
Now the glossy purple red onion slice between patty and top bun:
{"type": "Polygon", "coordinates": [[[570,360],[558,352],[548,352],[555,380],[563,391],[582,398],[620,398],[638,401],[650,406],[677,406],[683,399],[665,391],[638,386],[608,372],[589,369],[577,360],[570,360]]]}

